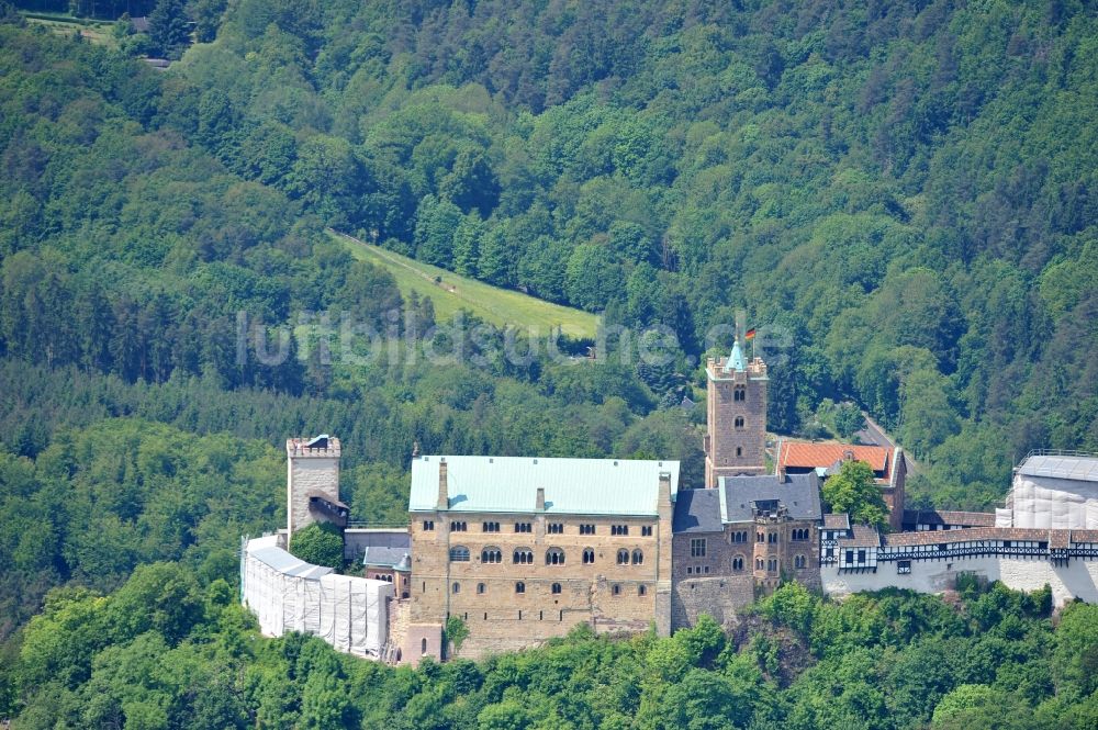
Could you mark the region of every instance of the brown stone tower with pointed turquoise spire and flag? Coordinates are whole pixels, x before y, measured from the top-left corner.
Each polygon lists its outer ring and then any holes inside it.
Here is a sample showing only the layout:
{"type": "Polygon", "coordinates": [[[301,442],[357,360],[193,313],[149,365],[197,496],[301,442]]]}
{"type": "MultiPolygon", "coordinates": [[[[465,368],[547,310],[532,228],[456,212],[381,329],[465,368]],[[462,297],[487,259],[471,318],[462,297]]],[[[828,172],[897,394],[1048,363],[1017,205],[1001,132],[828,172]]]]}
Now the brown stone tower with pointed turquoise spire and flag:
{"type": "Polygon", "coordinates": [[[766,473],[766,363],[743,357],[739,338],[706,372],[705,485],[721,476],[766,473]]]}

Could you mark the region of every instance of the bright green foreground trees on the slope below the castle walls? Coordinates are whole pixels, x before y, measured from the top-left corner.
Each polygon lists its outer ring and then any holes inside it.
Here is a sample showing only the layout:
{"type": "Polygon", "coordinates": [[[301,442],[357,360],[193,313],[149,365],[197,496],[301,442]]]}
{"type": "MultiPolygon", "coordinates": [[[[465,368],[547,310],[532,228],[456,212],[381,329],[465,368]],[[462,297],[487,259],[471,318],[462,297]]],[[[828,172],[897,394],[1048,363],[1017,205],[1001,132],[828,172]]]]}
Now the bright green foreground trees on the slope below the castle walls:
{"type": "Polygon", "coordinates": [[[789,584],[726,637],[578,630],[548,647],[417,671],[257,637],[222,579],[153,563],[109,597],[51,594],[11,658],[47,728],[1093,728],[1098,608],[963,586],[839,605],[789,584]],[[150,609],[155,606],[156,609],[150,609]]]}

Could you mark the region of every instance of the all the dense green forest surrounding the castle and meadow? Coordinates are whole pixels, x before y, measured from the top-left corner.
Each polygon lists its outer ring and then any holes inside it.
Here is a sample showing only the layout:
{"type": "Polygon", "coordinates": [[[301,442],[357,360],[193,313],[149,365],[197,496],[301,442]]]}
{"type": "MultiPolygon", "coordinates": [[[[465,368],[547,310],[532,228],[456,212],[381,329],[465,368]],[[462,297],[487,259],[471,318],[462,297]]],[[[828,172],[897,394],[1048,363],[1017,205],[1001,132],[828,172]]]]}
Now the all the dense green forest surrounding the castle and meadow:
{"type": "Polygon", "coordinates": [[[1095,723],[1093,610],[1053,628],[998,588],[788,588],[727,640],[419,672],[259,640],[233,605],[289,435],[341,438],[370,520],[403,518],[414,440],[677,458],[699,484],[704,415],[677,404],[740,308],[770,428],[858,403],[919,458],[912,504],[987,507],[1029,449],[1098,450],[1093,3],[16,4],[160,25],[94,46],[0,2],[0,719],[1095,723]],[[514,333],[436,333],[326,226],[679,348],[498,357],[514,333]],[[310,327],[344,314],[405,345],[328,364],[310,327]],[[458,342],[488,355],[427,356],[458,342]]]}

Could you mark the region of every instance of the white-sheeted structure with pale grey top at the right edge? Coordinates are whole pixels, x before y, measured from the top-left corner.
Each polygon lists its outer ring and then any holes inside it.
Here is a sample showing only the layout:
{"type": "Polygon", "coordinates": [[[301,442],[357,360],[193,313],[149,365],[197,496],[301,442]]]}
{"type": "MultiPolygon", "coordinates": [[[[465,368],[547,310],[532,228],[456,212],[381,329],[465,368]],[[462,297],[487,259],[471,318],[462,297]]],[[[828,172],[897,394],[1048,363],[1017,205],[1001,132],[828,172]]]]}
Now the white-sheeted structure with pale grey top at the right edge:
{"type": "Polygon", "coordinates": [[[1098,529],[1098,458],[1035,454],[1015,473],[1013,527],[1098,529]]]}

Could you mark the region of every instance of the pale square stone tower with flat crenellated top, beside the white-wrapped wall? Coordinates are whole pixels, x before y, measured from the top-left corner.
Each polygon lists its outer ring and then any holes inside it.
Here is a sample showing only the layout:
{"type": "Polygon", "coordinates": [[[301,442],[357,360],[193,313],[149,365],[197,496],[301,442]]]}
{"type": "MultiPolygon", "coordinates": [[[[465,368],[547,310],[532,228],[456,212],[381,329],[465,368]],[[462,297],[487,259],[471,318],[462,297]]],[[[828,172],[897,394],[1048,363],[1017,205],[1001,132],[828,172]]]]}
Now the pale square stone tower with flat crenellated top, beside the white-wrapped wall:
{"type": "Polygon", "coordinates": [[[327,434],[285,441],[287,539],[317,520],[347,526],[349,509],[339,501],[339,439],[327,434]]]}

